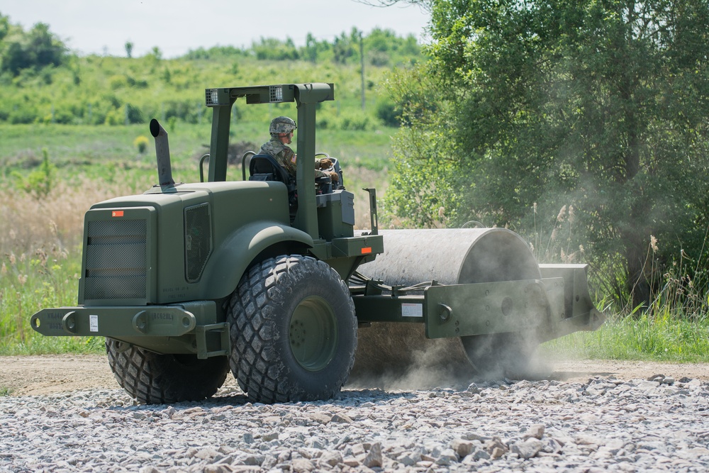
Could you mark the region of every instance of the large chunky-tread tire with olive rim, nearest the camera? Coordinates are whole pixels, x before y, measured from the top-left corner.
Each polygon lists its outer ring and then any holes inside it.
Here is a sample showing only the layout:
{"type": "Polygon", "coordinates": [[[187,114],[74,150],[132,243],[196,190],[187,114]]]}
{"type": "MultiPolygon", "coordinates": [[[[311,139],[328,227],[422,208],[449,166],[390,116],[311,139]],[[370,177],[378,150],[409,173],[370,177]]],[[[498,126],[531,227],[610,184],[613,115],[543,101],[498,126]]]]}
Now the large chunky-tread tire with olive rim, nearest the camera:
{"type": "Polygon", "coordinates": [[[347,284],[325,262],[290,255],[255,265],[227,319],[231,369],[251,401],[330,399],[347,382],[357,318],[347,284]]]}

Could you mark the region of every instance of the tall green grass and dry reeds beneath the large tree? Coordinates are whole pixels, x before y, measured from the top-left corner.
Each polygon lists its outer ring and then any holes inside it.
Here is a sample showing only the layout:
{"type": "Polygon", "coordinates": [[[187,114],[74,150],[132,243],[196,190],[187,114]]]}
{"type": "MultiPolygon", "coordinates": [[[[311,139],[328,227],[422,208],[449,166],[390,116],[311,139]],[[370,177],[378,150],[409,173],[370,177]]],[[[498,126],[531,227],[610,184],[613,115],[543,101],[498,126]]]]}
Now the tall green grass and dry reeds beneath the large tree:
{"type": "MultiPolygon", "coordinates": [[[[563,206],[551,231],[535,228],[532,249],[541,262],[584,262],[583,246],[574,247],[574,208],[563,206]]],[[[592,333],[573,333],[542,345],[542,352],[569,357],[618,360],[709,362],[709,279],[698,264],[701,255],[684,252],[669,268],[660,268],[659,242],[649,235],[646,273],[652,275],[649,306],[633,307],[625,283],[623,261],[609,255],[589,271],[592,297],[608,320],[592,333]]]]}

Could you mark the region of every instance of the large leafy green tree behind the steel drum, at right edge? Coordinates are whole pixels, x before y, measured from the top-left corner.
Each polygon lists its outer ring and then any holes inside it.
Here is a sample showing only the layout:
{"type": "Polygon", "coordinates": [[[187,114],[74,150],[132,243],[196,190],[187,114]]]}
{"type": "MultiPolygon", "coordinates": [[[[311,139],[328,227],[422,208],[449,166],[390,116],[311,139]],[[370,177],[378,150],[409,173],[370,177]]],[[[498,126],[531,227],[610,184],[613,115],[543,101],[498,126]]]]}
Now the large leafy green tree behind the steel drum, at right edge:
{"type": "MultiPolygon", "coordinates": [[[[440,157],[454,160],[453,220],[521,229],[573,218],[569,249],[618,255],[625,285],[615,290],[647,306],[664,262],[700,255],[709,220],[709,2],[413,3],[430,7],[433,59],[411,87],[440,91],[446,105],[430,120],[419,101],[403,102],[402,136],[429,133],[428,152],[454,151],[440,157]]],[[[425,153],[400,157],[430,165],[425,153]]],[[[408,184],[400,176],[393,187],[408,184]]]]}

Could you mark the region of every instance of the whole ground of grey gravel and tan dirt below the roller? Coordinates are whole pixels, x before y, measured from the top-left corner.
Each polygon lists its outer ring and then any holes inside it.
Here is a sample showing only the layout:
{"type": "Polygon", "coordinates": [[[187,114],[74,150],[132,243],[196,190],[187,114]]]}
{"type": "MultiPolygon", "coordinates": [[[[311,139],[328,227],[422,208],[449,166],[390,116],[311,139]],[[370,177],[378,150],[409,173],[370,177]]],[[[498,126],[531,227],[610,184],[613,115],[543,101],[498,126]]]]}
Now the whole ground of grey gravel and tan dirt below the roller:
{"type": "Polygon", "coordinates": [[[140,406],[104,357],[0,357],[0,472],[709,470],[707,365],[549,366],[270,406],[230,379],[208,401],[140,406]]]}

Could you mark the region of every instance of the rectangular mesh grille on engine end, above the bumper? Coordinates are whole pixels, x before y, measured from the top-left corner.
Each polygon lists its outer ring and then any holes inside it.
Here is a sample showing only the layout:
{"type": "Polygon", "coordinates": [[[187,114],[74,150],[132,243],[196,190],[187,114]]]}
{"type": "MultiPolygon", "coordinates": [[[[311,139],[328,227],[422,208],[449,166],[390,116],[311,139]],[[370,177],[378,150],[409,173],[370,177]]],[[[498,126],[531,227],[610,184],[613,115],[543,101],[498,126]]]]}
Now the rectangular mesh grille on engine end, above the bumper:
{"type": "Polygon", "coordinates": [[[89,221],[84,300],[145,299],[145,220],[89,221]]]}

